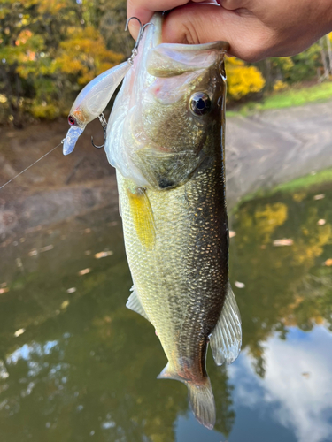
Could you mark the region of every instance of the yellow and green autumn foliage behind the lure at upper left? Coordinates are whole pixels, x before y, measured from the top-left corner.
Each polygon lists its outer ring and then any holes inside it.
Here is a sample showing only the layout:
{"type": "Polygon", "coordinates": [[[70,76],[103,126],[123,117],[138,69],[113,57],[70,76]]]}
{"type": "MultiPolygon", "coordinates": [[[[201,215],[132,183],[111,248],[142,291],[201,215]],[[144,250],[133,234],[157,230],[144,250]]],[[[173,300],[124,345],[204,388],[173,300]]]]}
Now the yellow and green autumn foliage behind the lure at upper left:
{"type": "MultiPolygon", "coordinates": [[[[14,0],[0,6],[0,118],[55,118],[78,90],[123,56],[98,33],[95,2],[14,0]]],[[[0,121],[1,121],[0,120],[0,121]]]]}

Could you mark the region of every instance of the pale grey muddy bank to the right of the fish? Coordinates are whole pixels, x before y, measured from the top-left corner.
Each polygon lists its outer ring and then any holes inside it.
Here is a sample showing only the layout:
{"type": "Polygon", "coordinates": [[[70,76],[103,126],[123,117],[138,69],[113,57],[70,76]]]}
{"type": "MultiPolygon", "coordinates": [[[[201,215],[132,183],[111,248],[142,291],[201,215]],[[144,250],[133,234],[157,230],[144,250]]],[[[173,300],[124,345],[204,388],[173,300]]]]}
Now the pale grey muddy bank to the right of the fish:
{"type": "Polygon", "coordinates": [[[259,188],[274,187],[331,166],[332,101],[228,118],[229,206],[259,188]]]}

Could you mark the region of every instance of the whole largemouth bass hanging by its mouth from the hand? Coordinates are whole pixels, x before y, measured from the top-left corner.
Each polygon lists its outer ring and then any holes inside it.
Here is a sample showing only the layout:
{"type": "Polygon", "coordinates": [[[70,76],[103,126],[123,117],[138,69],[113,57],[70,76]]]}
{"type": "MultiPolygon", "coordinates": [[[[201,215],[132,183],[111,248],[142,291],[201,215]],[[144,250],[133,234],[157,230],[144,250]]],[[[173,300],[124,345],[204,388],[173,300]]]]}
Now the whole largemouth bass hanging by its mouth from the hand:
{"type": "Polygon", "coordinates": [[[164,43],[162,21],[154,14],[130,68],[122,68],[104,149],[116,168],[133,279],[127,308],[152,324],[164,349],[167,364],[158,378],[187,385],[197,421],[212,429],[208,346],[217,365],[229,364],[242,341],[228,278],[228,43],[164,43]]]}

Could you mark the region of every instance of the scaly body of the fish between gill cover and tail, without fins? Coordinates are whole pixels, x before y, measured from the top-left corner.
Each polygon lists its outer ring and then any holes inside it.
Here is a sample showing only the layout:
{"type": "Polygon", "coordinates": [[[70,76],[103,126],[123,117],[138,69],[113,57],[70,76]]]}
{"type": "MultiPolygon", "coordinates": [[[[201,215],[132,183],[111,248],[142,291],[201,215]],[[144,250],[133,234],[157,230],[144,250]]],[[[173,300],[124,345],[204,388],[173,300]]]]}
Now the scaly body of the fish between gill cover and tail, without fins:
{"type": "Polygon", "coordinates": [[[128,180],[117,173],[127,259],[136,293],[168,361],[183,380],[188,380],[190,361],[190,380],[197,383],[206,377],[208,336],[227,291],[228,232],[227,223],[221,221],[226,212],[221,165],[220,156],[214,167],[209,162],[202,164],[182,187],[147,192],[156,230],[152,250],[137,235],[127,197],[128,180]]]}

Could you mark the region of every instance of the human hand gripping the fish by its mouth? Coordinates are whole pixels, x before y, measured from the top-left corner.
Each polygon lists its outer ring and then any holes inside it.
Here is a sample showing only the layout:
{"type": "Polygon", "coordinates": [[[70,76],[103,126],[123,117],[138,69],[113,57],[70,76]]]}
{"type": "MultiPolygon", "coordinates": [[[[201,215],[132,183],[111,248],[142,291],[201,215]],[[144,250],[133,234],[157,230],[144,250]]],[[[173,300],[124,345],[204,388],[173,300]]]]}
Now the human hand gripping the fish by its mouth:
{"type": "MultiPolygon", "coordinates": [[[[147,23],[154,11],[172,10],[163,41],[229,42],[229,55],[245,61],[297,54],[332,31],[332,0],[128,0],[127,16],[147,23]],[[174,9],[176,8],[176,9],[174,9]]],[[[135,20],[129,24],[136,38],[135,20]]]]}

